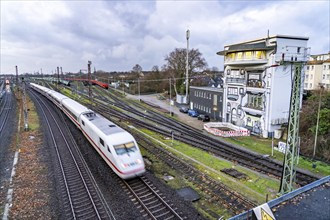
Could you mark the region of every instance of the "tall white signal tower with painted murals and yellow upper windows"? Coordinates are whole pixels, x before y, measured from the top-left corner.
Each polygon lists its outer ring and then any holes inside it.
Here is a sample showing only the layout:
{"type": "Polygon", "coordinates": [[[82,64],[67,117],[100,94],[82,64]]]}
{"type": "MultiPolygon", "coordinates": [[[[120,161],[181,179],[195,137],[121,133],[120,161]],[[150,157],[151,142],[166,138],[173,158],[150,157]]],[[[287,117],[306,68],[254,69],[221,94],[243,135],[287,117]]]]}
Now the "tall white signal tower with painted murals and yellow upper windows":
{"type": "Polygon", "coordinates": [[[224,56],[222,121],[265,138],[280,134],[288,122],[294,66],[308,60],[307,41],[276,35],[219,51],[224,56]]]}

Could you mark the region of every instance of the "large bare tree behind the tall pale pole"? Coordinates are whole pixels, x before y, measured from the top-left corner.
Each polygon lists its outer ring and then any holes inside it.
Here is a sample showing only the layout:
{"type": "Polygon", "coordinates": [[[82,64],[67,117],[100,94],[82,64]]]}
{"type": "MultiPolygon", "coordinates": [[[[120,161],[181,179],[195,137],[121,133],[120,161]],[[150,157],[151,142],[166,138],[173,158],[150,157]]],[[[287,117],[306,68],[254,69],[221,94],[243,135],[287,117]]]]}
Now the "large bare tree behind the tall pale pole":
{"type": "MultiPolygon", "coordinates": [[[[185,74],[186,74],[187,49],[175,48],[165,57],[165,69],[170,73],[174,82],[174,91],[176,94],[185,93],[185,74]]],[[[198,49],[189,50],[188,54],[188,73],[189,77],[194,76],[197,71],[202,71],[207,67],[205,59],[198,49]]]]}

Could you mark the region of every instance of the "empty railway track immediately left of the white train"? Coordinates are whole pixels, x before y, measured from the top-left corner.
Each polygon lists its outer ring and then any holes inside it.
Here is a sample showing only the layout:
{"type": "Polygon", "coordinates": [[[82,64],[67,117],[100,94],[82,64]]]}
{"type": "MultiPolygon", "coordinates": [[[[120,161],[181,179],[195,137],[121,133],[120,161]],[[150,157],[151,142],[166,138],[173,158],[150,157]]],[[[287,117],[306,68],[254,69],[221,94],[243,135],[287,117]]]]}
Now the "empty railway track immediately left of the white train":
{"type": "MultiPolygon", "coordinates": [[[[57,156],[57,176],[61,186],[63,215],[65,219],[115,219],[102,197],[91,172],[78,150],[63,114],[56,117],[58,109],[50,108],[50,101],[31,92],[38,104],[50,134],[50,144],[57,156]],[[61,125],[59,124],[62,122],[61,125]],[[64,126],[63,126],[64,125],[64,126]]],[[[52,104],[51,104],[52,105],[52,104]]]]}

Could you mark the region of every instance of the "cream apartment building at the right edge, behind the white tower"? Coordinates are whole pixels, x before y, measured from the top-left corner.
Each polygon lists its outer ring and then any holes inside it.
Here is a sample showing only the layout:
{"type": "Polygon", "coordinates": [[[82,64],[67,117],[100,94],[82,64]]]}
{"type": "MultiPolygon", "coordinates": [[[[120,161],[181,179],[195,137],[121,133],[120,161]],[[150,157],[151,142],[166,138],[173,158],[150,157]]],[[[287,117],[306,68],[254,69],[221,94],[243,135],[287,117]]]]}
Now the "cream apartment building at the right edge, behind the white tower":
{"type": "Polygon", "coordinates": [[[330,52],[311,55],[306,65],[304,89],[317,90],[321,85],[330,90],[330,52]]]}

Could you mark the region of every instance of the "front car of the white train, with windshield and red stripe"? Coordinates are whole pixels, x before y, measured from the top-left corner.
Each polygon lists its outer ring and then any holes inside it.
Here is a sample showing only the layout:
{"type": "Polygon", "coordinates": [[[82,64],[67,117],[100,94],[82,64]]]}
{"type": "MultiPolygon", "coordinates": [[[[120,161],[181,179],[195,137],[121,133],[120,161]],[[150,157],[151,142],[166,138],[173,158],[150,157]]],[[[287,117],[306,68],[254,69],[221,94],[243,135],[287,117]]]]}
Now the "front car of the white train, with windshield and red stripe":
{"type": "Polygon", "coordinates": [[[130,179],[145,172],[140,149],[131,134],[94,112],[83,113],[80,120],[85,136],[119,177],[130,179]]]}

